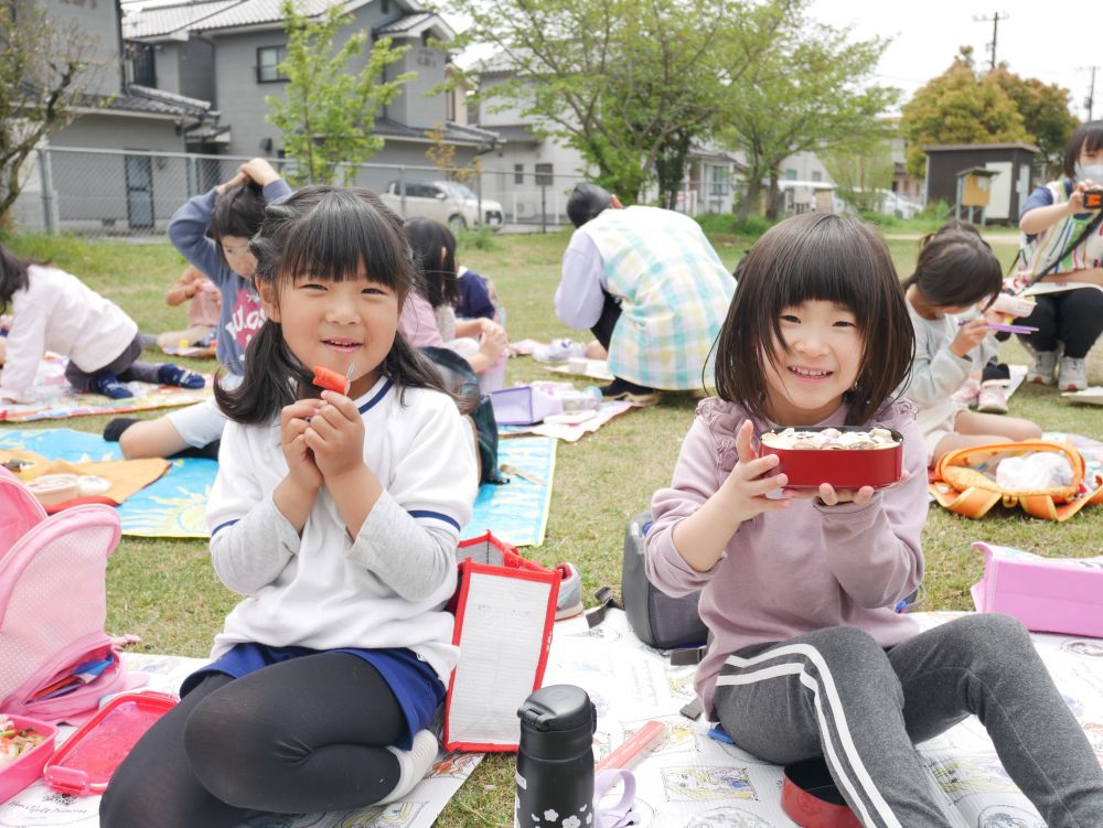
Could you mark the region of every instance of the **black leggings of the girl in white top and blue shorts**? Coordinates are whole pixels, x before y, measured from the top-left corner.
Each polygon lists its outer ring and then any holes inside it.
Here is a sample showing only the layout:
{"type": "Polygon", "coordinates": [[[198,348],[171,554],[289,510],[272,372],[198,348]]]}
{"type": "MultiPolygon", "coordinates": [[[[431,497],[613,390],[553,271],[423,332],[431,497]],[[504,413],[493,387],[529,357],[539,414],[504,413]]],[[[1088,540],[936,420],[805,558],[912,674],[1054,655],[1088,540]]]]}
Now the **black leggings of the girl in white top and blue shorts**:
{"type": "Polygon", "coordinates": [[[111,777],[101,828],[233,828],[258,811],[371,805],[395,789],[406,718],[387,682],[349,653],[204,678],[111,777]]]}

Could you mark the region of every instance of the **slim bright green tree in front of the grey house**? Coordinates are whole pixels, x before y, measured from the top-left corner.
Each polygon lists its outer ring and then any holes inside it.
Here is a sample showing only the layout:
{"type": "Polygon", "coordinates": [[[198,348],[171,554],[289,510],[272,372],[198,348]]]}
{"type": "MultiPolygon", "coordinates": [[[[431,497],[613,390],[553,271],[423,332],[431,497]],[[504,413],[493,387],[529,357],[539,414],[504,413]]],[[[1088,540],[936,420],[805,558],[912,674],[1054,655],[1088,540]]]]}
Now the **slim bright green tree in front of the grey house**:
{"type": "Polygon", "coordinates": [[[332,184],[339,176],[349,184],[355,164],[383,148],[372,135],[379,110],[395,99],[415,73],[379,80],[384,68],[401,58],[409,46],[395,46],[389,37],[372,44],[357,72],[350,62],[367,45],[367,32],[353,32],[343,45],[335,41],[352,18],[331,6],[318,18],[301,12],[295,0],[280,7],[287,32],[287,58],[277,67],[288,78],[287,99],[269,95],[267,120],[283,132],[283,149],[295,162],[287,171],[293,184],[332,184]]]}

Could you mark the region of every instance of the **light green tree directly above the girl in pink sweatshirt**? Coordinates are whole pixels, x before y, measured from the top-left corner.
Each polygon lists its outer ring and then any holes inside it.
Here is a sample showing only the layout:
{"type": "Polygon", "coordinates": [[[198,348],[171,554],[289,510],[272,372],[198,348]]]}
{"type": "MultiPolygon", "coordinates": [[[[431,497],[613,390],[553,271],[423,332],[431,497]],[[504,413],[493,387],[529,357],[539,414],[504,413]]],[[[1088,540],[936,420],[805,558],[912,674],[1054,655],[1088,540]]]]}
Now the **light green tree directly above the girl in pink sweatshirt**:
{"type": "Polygon", "coordinates": [[[808,0],[792,3],[770,49],[725,94],[721,137],[743,152],[747,163],[741,219],[758,203],[763,180],[769,181],[767,215],[777,217],[785,158],[864,146],[879,135],[877,117],[899,96],[897,89],[867,83],[888,41],[850,41],[847,30],[810,20],[808,6],[808,0]]]}

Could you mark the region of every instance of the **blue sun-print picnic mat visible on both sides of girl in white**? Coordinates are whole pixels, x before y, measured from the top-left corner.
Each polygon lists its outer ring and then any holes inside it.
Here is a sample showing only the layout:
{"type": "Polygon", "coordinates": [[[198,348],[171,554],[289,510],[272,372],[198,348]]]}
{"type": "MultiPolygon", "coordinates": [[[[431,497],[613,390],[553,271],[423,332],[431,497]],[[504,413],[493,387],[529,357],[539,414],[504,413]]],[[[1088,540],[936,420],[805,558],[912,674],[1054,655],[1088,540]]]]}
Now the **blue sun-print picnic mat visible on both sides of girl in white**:
{"type": "MultiPolygon", "coordinates": [[[[51,460],[71,463],[122,460],[118,443],[73,429],[6,429],[0,431],[0,448],[33,451],[51,460]]],[[[482,486],[463,537],[476,537],[491,529],[513,546],[542,544],[552,503],[555,448],[556,440],[547,437],[503,440],[499,444],[499,462],[534,480],[506,471],[510,477],[506,485],[482,486]]],[[[217,471],[218,464],[213,460],[173,460],[163,477],[136,492],[119,506],[122,534],[157,538],[207,537],[206,502],[217,471]]]]}

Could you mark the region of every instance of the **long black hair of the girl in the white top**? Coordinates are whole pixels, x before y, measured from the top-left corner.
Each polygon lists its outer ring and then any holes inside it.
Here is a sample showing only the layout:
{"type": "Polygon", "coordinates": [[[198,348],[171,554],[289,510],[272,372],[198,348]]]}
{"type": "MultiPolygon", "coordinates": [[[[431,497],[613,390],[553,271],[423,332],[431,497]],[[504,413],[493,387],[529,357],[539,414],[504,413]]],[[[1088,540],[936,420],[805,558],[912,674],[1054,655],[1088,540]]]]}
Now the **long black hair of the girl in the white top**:
{"type": "MultiPolygon", "coordinates": [[[[367,190],[308,186],[269,204],[249,251],[257,257],[257,284],[275,302],[303,273],[333,281],[367,275],[395,291],[401,310],[417,278],[401,218],[367,190]]],[[[401,334],[379,372],[400,389],[445,390],[432,364],[401,334]]],[[[313,372],[288,348],[280,324],[268,319],[246,348],[242,384],[229,390],[216,385],[214,394],[235,422],[267,422],[297,399],[317,397],[312,379],[313,372]]]]}

